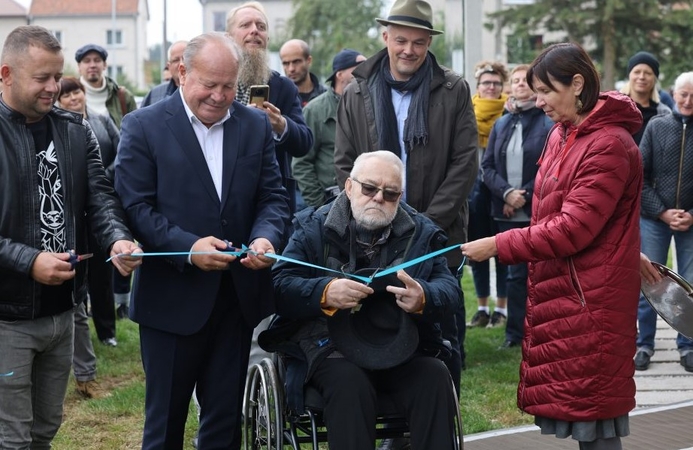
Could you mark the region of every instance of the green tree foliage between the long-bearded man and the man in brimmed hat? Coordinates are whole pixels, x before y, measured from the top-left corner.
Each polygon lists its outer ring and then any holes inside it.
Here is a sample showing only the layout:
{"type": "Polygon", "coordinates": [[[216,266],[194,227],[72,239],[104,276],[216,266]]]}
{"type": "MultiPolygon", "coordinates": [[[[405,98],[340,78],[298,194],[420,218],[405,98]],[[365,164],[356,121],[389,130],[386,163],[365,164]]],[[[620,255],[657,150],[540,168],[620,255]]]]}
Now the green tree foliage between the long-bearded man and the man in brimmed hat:
{"type": "Polygon", "coordinates": [[[332,74],[332,58],[344,48],[371,56],[383,47],[376,17],[383,0],[293,0],[289,19],[291,39],[303,39],[313,56],[311,71],[321,78],[332,74]]]}

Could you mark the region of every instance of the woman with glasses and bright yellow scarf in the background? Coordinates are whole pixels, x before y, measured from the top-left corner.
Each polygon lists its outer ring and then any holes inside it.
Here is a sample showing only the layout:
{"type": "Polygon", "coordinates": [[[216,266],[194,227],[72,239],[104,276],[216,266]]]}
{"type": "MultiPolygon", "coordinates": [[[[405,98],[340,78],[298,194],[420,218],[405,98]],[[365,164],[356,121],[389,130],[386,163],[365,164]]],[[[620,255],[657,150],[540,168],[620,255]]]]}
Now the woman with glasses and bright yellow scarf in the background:
{"type": "MultiPolygon", "coordinates": [[[[481,159],[493,124],[503,115],[503,109],[508,100],[507,94],[503,92],[505,82],[508,80],[508,72],[499,62],[481,61],[474,67],[474,77],[476,78],[476,94],[472,97],[472,104],[479,130],[479,167],[481,167],[481,159]]],[[[491,193],[482,177],[483,174],[479,171],[476,184],[469,197],[469,240],[496,234],[496,226],[491,217],[491,193]]],[[[472,275],[478,310],[467,326],[489,328],[503,326],[508,317],[506,266],[496,260],[496,307],[493,314],[489,308],[491,276],[488,261],[473,263],[472,275]]]]}

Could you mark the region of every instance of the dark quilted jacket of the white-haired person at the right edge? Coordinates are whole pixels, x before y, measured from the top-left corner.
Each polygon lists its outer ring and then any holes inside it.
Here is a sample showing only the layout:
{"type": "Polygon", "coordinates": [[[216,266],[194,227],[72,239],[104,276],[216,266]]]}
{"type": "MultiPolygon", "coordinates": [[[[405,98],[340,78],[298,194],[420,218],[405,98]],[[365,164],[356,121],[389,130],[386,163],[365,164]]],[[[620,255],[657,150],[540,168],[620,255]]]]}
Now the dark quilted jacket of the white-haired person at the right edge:
{"type": "Polygon", "coordinates": [[[640,215],[657,220],[667,209],[693,213],[693,123],[678,112],[655,116],[640,142],[643,190],[640,215]]]}

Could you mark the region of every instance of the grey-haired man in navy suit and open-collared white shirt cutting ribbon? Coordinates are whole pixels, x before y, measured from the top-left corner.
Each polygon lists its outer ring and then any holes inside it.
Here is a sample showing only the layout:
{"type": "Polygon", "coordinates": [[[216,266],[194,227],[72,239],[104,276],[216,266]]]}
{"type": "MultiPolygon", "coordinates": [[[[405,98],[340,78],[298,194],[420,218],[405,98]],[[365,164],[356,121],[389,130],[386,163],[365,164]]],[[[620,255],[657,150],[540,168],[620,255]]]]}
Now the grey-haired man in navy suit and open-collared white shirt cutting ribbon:
{"type": "Polygon", "coordinates": [[[146,375],[143,449],[182,449],[193,387],[200,448],[238,449],[253,327],[273,312],[272,259],[288,197],[267,115],[234,102],[239,54],[220,34],[188,44],[181,87],[123,121],[116,190],[145,252],[131,318],[146,375]],[[223,253],[231,243],[253,250],[223,253]]]}

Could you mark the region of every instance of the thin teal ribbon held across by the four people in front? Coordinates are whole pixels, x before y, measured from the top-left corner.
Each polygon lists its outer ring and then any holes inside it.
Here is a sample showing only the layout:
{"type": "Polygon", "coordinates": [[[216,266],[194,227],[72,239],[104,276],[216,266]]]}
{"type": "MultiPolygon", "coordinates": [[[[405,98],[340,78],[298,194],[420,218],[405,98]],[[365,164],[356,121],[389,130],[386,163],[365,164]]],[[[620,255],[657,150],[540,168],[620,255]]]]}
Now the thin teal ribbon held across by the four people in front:
{"type": "MultiPolygon", "coordinates": [[[[442,249],[440,249],[440,250],[436,250],[436,251],[431,252],[431,253],[427,253],[427,254],[425,254],[425,255],[423,255],[423,256],[419,256],[418,258],[414,258],[414,259],[412,259],[412,260],[410,260],[410,261],[403,262],[402,264],[397,264],[396,266],[389,267],[389,268],[384,269],[384,270],[379,270],[379,271],[377,271],[376,273],[374,273],[373,275],[371,275],[370,277],[364,277],[364,276],[356,275],[356,274],[353,274],[353,273],[346,273],[346,272],[342,272],[342,271],[339,271],[339,270],[330,269],[330,268],[327,268],[327,267],[319,266],[319,265],[317,265],[317,264],[311,264],[311,263],[309,263],[309,262],[305,262],[305,261],[301,261],[301,260],[298,260],[298,259],[294,259],[294,258],[289,258],[289,257],[286,257],[286,256],[282,256],[282,255],[279,255],[279,254],[276,254],[276,253],[265,253],[263,256],[266,256],[266,257],[268,257],[268,258],[273,258],[273,259],[275,259],[275,260],[277,260],[277,261],[286,261],[286,262],[290,262],[290,263],[293,263],[293,264],[299,264],[299,265],[301,265],[301,266],[312,267],[312,268],[318,269],[318,270],[324,270],[324,271],[327,271],[327,272],[338,273],[338,274],[340,274],[340,275],[344,275],[344,276],[347,276],[347,277],[350,277],[350,278],[355,278],[355,279],[357,279],[357,280],[363,281],[363,282],[366,283],[366,284],[370,284],[370,283],[373,281],[373,279],[375,279],[375,278],[384,277],[385,275],[390,275],[391,273],[396,273],[398,270],[406,269],[407,267],[414,266],[414,265],[416,265],[416,264],[419,264],[419,263],[421,263],[421,262],[426,261],[427,259],[435,258],[436,256],[442,255],[443,253],[447,253],[447,252],[449,252],[450,250],[459,249],[459,247],[460,247],[459,244],[455,244],[455,245],[451,245],[451,246],[449,246],[449,247],[442,248],[442,249]]],[[[133,253],[133,254],[130,254],[130,255],[127,255],[127,256],[134,256],[134,257],[150,257],[150,256],[189,256],[189,255],[212,255],[212,254],[218,254],[218,253],[224,253],[224,254],[227,254],[227,255],[233,255],[233,256],[237,256],[237,257],[242,256],[242,255],[244,255],[244,254],[246,254],[246,253],[250,253],[250,254],[253,254],[253,255],[258,255],[257,252],[255,252],[255,251],[253,251],[253,250],[250,250],[248,247],[246,247],[245,245],[243,245],[240,249],[236,249],[236,250],[222,250],[222,251],[213,251],[213,252],[152,252],[152,253],[133,253]]],[[[109,262],[110,260],[112,260],[113,258],[116,258],[116,257],[118,257],[118,256],[125,256],[125,255],[126,255],[125,253],[121,253],[121,254],[112,256],[112,257],[108,258],[108,259],[106,260],[106,262],[109,262]]],[[[460,272],[460,270],[461,270],[462,267],[464,266],[464,263],[465,263],[466,260],[467,260],[466,257],[462,259],[462,264],[460,264],[460,267],[457,268],[458,273],[460,272]]]]}

